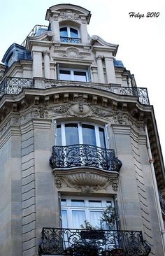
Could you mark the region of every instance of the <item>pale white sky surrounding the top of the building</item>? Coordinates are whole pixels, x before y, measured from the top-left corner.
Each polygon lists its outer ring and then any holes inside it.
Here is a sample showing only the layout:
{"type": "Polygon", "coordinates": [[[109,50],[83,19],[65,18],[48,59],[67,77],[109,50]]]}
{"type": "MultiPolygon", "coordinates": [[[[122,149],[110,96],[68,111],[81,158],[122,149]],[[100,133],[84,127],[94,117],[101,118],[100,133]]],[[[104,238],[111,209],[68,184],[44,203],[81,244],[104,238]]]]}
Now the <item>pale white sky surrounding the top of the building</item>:
{"type": "Polygon", "coordinates": [[[73,3],[90,10],[89,35],[119,44],[116,59],[134,74],[138,87],[147,87],[154,105],[165,160],[164,0],[6,0],[0,1],[0,60],[12,43],[21,44],[36,24],[46,24],[46,10],[58,3],[73,3]],[[145,17],[129,17],[130,12],[145,17]],[[159,17],[146,17],[159,12],[159,17]]]}

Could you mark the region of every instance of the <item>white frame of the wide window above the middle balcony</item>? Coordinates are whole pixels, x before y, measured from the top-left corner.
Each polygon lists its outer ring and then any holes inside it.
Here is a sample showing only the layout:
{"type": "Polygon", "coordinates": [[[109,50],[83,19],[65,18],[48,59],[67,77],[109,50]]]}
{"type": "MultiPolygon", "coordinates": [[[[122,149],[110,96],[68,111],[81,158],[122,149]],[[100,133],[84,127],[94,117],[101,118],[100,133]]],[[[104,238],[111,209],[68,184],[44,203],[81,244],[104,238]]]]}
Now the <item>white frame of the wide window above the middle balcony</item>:
{"type": "MultiPolygon", "coordinates": [[[[106,133],[106,129],[104,126],[101,125],[97,125],[91,122],[59,122],[59,123],[55,123],[55,136],[57,136],[57,125],[61,125],[61,131],[62,131],[62,145],[66,145],[66,134],[65,134],[65,125],[66,124],[78,124],[78,137],[79,137],[79,144],[83,144],[82,141],[82,124],[84,125],[92,125],[94,126],[94,131],[95,131],[95,138],[96,138],[96,146],[101,148],[101,143],[100,143],[100,136],[99,136],[99,128],[103,128],[104,129],[104,137],[105,137],[105,144],[106,144],[106,148],[108,148],[108,138],[107,138],[107,133],[106,133]]],[[[57,140],[56,140],[57,143],[57,140]]]]}

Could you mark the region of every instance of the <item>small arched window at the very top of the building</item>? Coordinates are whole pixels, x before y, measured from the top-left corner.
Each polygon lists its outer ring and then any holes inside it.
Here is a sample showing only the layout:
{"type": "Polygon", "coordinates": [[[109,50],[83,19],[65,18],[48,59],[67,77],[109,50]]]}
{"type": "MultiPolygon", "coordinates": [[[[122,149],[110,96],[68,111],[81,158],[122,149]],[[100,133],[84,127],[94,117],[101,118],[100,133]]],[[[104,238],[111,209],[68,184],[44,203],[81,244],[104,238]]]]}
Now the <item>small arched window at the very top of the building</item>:
{"type": "Polygon", "coordinates": [[[61,42],[64,43],[81,43],[78,29],[73,27],[61,27],[59,29],[61,42]]]}

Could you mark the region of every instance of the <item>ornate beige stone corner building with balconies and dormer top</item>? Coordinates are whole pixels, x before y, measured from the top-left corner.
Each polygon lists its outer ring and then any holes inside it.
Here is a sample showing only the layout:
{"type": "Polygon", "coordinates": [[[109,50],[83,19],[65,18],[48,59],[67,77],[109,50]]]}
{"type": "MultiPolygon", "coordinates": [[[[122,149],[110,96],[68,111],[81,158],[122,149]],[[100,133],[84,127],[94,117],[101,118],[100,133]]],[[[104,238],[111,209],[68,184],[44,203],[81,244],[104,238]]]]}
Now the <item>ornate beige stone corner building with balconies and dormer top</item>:
{"type": "Polygon", "coordinates": [[[0,64],[0,255],[164,255],[153,107],[90,17],[50,7],[0,64]]]}

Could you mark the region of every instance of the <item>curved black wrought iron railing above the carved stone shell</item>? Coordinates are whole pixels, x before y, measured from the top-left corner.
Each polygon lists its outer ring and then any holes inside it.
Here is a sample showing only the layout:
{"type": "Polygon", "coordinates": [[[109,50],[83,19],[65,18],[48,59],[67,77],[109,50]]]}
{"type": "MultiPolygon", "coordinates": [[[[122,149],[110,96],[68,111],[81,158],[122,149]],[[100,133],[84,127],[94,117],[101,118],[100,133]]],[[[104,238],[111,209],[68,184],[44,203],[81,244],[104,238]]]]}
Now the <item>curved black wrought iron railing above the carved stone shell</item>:
{"type": "Polygon", "coordinates": [[[113,149],[85,144],[54,145],[50,157],[50,166],[52,169],[91,166],[108,171],[120,171],[122,162],[115,157],[113,149]]]}

